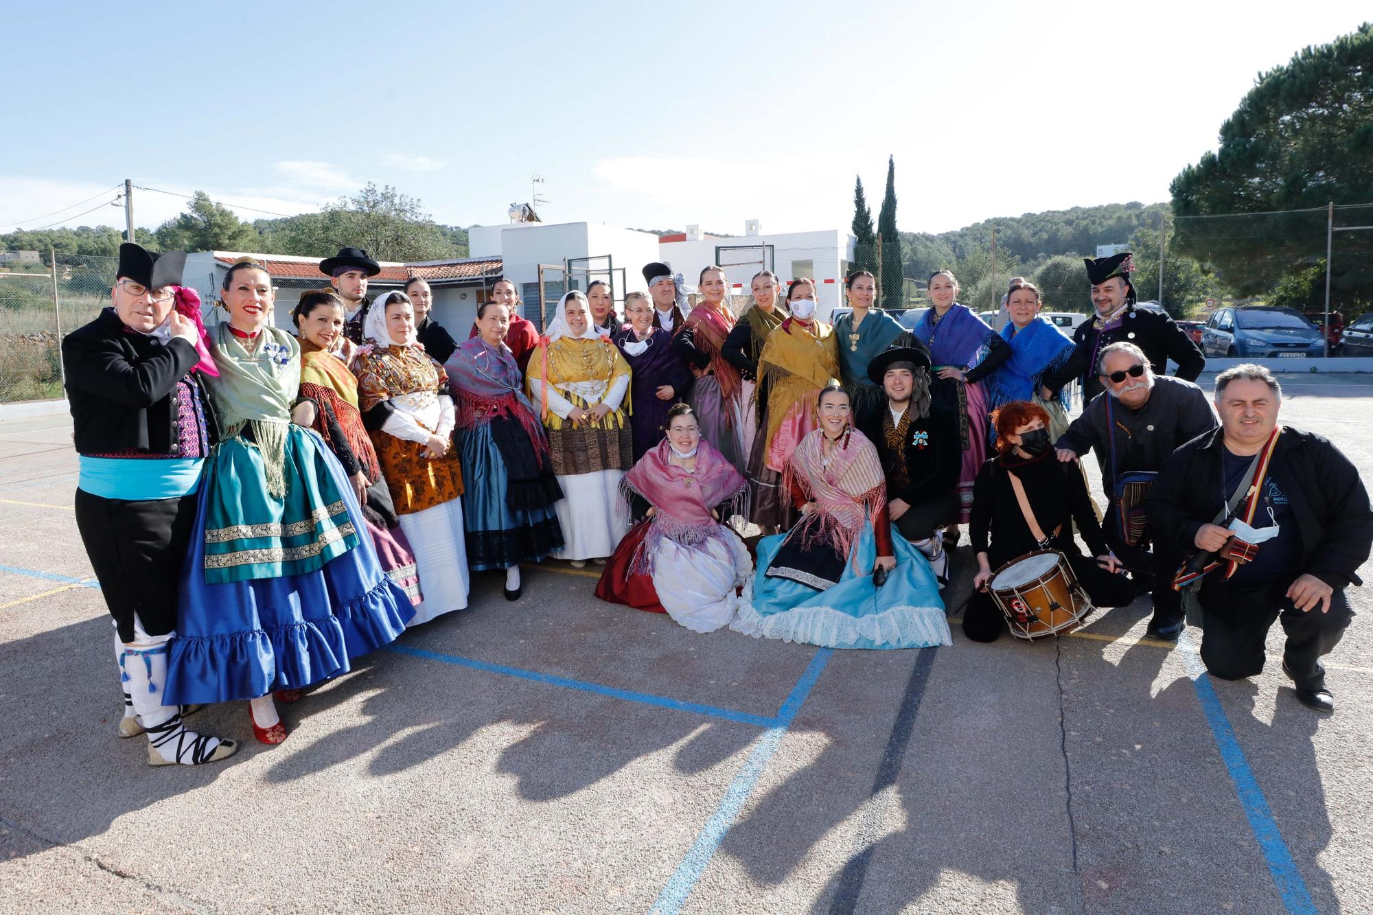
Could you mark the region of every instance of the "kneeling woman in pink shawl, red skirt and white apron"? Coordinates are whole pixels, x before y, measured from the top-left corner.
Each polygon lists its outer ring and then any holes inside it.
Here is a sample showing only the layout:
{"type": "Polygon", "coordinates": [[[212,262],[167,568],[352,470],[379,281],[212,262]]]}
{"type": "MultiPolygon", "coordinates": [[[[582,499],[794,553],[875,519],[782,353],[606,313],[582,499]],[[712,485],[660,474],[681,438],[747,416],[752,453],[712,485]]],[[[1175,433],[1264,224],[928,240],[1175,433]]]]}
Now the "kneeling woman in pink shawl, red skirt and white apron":
{"type": "Polygon", "coordinates": [[[752,562],[719,519],[743,514],[748,484],[700,437],[689,405],[667,411],[667,438],[640,458],[621,486],[647,521],[619,541],[596,596],[666,613],[693,632],[729,622],[752,562]]]}

